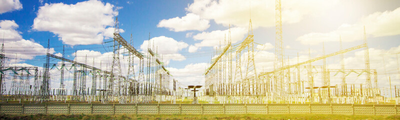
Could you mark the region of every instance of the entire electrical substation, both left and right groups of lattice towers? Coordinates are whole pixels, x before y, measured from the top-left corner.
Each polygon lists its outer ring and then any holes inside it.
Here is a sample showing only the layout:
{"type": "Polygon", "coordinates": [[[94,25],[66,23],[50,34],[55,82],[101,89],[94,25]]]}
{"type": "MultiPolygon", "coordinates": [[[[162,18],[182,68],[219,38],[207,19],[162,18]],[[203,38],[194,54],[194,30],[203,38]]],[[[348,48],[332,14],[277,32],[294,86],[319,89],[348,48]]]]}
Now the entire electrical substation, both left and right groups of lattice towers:
{"type": "MultiPolygon", "coordinates": [[[[251,18],[247,36],[237,44],[232,44],[229,25],[227,35],[222,44],[220,41],[216,46],[210,64],[203,74],[205,82],[202,87],[203,95],[199,97],[200,100],[208,103],[244,103],[244,106],[246,106],[245,103],[284,103],[289,106],[291,103],[326,105],[385,102],[386,98],[381,95],[382,90],[378,86],[377,70],[370,68],[365,27],[362,44],[343,48],[340,36],[338,38],[340,49],[337,51],[325,53],[325,45],[322,42],[323,55],[311,57],[310,50],[308,50],[308,59],[300,61],[297,52],[296,63],[290,63],[289,56],[286,56],[284,52],[281,8],[281,1],[275,0],[273,70],[260,69],[254,60],[256,51],[254,51],[255,42],[251,18]],[[346,68],[344,53],[357,49],[364,51],[364,67],[346,68]],[[328,68],[326,59],[332,56],[340,56],[340,68],[328,68]],[[316,61],[322,61],[322,64],[315,63],[316,61]],[[349,83],[346,77],[350,74],[364,75],[365,81],[358,84],[349,83]],[[340,76],[340,82],[333,84],[332,77],[336,75],[340,76]],[[315,85],[315,82],[320,82],[321,85],[315,85]]],[[[88,63],[87,60],[90,58],[87,55],[84,62],[66,58],[64,46],[62,56],[51,54],[49,39],[42,68],[7,66],[5,61],[8,57],[5,55],[4,44],[2,44],[0,100],[29,103],[48,101],[87,103],[171,101],[174,103],[176,99],[184,98],[184,87],[162,62],[162,55],[158,53],[157,46],[154,46],[154,43],[151,44],[153,41],[150,40],[150,35],[147,49],[140,52],[133,47],[132,34],[130,34],[128,42],[119,33],[119,21],[116,17],[113,39],[104,42],[112,43],[110,46],[112,47],[112,63],[106,64],[105,69],[104,66],[101,66],[101,61],[99,67],[95,66],[94,58],[92,63],[88,63]],[[121,52],[121,49],[127,51],[121,52]],[[127,72],[123,72],[121,69],[121,56],[128,59],[127,72]],[[139,63],[136,67],[138,69],[135,71],[134,61],[137,58],[139,63]],[[69,90],[64,83],[66,80],[72,81],[69,90]],[[6,87],[6,81],[9,82],[9,87],[6,87]]],[[[76,53],[75,51],[75,56],[77,56],[76,53]]],[[[400,69],[397,68],[397,70],[400,74],[400,69]]],[[[391,95],[391,85],[389,90],[391,95]]],[[[385,92],[384,89],[383,92],[385,92]]],[[[187,93],[188,91],[186,91],[187,93]]],[[[396,103],[399,103],[400,86],[394,86],[394,94],[396,103]]],[[[135,107],[137,108],[137,106],[135,107]]],[[[223,107],[225,106],[223,105],[223,107]]],[[[180,105],[179,108],[181,108],[180,105]]],[[[289,108],[287,107],[287,109],[289,108]]]]}

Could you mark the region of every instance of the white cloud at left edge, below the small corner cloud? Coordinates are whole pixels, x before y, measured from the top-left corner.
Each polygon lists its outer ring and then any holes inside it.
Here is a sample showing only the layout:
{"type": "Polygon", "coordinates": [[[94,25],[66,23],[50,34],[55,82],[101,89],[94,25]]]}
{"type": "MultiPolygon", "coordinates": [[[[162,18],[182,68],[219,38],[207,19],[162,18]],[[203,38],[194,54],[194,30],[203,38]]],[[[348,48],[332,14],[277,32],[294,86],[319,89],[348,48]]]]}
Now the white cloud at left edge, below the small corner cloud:
{"type": "MultiPolygon", "coordinates": [[[[33,40],[23,39],[20,31],[17,31],[18,24],[13,20],[0,20],[0,32],[4,33],[4,50],[5,55],[10,58],[18,57],[18,60],[12,62],[22,61],[21,59],[33,59],[36,55],[44,55],[47,48],[44,48],[39,43],[33,40]],[[29,50],[27,50],[29,49],[29,50]]],[[[54,48],[50,48],[50,53],[54,52],[54,48]]]]}

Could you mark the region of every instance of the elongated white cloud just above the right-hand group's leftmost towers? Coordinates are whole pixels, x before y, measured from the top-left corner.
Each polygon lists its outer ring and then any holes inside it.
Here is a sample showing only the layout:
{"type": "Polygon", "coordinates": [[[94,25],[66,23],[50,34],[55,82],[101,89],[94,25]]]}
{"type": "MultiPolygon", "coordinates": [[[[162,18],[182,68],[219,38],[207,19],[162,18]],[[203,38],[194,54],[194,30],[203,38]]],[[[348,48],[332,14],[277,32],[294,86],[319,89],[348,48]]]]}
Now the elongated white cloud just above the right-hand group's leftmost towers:
{"type": "MultiPolygon", "coordinates": [[[[193,35],[194,40],[201,40],[199,43],[195,43],[194,45],[197,47],[201,46],[216,46],[219,45],[219,41],[221,44],[223,43],[224,37],[226,35],[226,40],[228,38],[228,30],[214,30],[210,32],[201,32],[193,35]]],[[[236,43],[237,41],[243,40],[247,33],[247,28],[244,27],[233,27],[230,29],[232,43],[236,43]]]]}

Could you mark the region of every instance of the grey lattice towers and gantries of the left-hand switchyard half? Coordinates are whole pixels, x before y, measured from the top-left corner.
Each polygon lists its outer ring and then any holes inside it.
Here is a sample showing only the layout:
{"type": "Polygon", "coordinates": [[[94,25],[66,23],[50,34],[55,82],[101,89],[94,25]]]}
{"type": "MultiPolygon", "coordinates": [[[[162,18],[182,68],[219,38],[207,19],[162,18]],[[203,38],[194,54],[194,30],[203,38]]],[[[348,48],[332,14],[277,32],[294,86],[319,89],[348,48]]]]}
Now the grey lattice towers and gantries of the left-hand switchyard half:
{"type": "MultiPolygon", "coordinates": [[[[162,62],[162,57],[148,47],[147,55],[137,51],[130,35],[128,43],[120,34],[118,18],[115,18],[115,31],[112,41],[113,57],[110,71],[87,63],[49,53],[47,54],[43,70],[38,67],[5,66],[6,56],[4,44],[1,46],[1,101],[19,101],[41,103],[48,101],[81,101],[88,103],[149,103],[151,101],[175,101],[183,95],[183,87],[170,74],[162,62]],[[120,49],[126,49],[128,58],[128,72],[122,74],[120,67],[120,49]],[[139,70],[136,77],[134,57],[139,58],[139,70]],[[144,67],[145,66],[145,67],[144,67]],[[59,72],[59,76],[50,71],[59,72]],[[72,75],[70,75],[72,74],[72,75]],[[59,87],[51,87],[51,81],[59,78],[59,87]],[[65,80],[72,80],[71,90],[64,85],[65,80]],[[11,81],[11,87],[6,88],[5,81],[11,81]]],[[[149,39],[150,41],[150,39],[149,39]]],[[[49,39],[48,39],[49,42],[49,39]]],[[[64,49],[64,48],[63,48],[64,49]]],[[[125,53],[125,52],[124,52],[125,53]]],[[[76,55],[76,52],[75,52],[76,55]]],[[[108,65],[107,65],[108,67],[108,65]]],[[[106,68],[107,69],[107,68],[106,68]]],[[[58,82],[56,82],[58,83],[58,82]]],[[[57,84],[58,85],[58,84],[57,84]]]]}

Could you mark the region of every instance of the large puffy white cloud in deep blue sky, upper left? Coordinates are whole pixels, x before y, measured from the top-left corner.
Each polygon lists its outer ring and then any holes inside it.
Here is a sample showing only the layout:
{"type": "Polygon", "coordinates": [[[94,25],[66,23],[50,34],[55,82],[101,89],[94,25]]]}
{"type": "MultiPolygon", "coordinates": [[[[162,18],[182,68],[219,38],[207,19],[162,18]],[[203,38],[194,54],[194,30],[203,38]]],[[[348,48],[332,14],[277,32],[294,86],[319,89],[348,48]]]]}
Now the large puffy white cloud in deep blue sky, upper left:
{"type": "Polygon", "coordinates": [[[99,44],[104,36],[109,38],[113,32],[113,17],[117,15],[113,7],[98,0],[76,4],[45,3],[39,7],[32,28],[53,32],[65,44],[99,44]]]}

